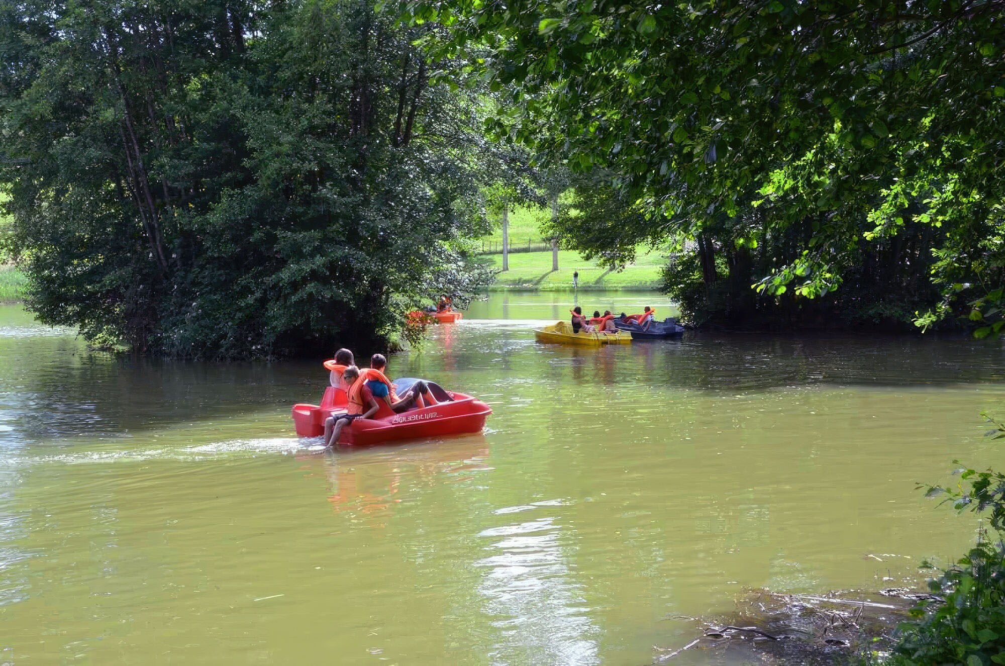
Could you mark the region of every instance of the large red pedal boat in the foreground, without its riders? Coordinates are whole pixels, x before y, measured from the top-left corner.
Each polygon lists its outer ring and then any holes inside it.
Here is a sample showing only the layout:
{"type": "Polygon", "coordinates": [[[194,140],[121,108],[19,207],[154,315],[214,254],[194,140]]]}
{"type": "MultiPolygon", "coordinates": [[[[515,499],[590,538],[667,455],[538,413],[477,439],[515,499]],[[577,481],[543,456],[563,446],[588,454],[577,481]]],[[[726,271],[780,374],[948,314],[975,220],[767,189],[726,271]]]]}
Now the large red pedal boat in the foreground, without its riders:
{"type": "MultiPolygon", "coordinates": [[[[443,390],[432,383],[430,390],[436,399],[441,400],[438,404],[401,413],[395,413],[386,402],[378,400],[380,409],[374,418],[354,420],[342,429],[339,444],[368,446],[441,435],[480,433],[485,427],[485,419],[492,412],[490,406],[472,395],[443,390]]],[[[299,437],[323,436],[325,420],[333,414],[345,413],[346,404],[346,391],[334,386],[325,389],[321,405],[294,404],[291,415],[296,434],[299,437]]]]}

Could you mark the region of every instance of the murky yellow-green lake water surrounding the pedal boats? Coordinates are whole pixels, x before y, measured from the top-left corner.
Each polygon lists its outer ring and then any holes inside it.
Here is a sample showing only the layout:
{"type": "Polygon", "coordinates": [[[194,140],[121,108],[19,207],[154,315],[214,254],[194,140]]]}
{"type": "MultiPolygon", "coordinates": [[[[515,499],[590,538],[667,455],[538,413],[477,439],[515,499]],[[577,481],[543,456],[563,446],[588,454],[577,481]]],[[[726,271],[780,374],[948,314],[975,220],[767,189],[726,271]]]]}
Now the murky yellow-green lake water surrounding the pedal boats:
{"type": "Polygon", "coordinates": [[[288,420],[317,364],[116,358],[0,308],[0,661],[641,664],[745,590],[915,585],[972,540],[915,486],[1005,466],[1000,342],[519,321],[568,306],[496,296],[392,358],[484,435],[335,454],[288,420]]]}

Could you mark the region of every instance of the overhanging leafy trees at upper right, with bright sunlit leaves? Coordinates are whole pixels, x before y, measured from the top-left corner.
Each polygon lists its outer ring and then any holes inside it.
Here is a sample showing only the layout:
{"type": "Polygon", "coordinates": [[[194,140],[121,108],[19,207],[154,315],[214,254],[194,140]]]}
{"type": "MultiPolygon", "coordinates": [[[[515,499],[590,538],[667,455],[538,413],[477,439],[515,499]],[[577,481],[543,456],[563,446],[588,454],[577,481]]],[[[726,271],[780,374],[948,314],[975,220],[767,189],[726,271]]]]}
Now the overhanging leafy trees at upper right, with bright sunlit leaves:
{"type": "Polygon", "coordinates": [[[825,297],[822,317],[903,320],[917,309],[931,325],[976,309],[1000,329],[1002,6],[415,0],[404,10],[448,26],[436,52],[492,49],[487,75],[516,103],[490,123],[497,136],[609,175],[638,212],[599,230],[590,215],[570,221],[568,245],[617,263],[638,242],[669,239],[681,260],[669,285],[696,290],[684,305],[710,316],[825,297]]]}

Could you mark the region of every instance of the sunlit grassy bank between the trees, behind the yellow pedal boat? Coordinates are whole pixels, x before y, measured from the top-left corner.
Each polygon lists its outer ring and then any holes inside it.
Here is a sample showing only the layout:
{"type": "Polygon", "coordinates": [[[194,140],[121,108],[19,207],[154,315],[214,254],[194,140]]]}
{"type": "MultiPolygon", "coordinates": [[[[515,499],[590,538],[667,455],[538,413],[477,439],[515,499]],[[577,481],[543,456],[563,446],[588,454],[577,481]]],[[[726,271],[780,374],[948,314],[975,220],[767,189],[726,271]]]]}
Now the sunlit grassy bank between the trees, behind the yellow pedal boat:
{"type": "MultiPolygon", "coordinates": [[[[489,255],[484,261],[496,271],[502,269],[502,256],[489,255]]],[[[551,253],[520,253],[510,255],[510,270],[495,276],[489,291],[508,289],[572,291],[573,273],[579,272],[579,289],[623,289],[650,291],[660,285],[659,270],[663,265],[657,253],[640,256],[638,261],[620,273],[605,271],[596,262],[588,262],[579,253],[559,253],[559,270],[552,271],[551,253]]]]}

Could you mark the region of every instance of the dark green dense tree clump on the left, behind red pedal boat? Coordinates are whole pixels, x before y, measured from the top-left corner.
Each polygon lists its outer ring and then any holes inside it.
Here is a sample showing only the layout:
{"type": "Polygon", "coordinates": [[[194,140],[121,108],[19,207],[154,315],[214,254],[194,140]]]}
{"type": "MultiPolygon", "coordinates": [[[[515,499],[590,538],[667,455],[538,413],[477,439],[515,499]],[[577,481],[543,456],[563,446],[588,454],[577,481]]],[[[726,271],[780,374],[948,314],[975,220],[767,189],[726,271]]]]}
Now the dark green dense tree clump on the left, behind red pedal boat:
{"type": "Polygon", "coordinates": [[[269,356],[470,294],[478,187],[509,166],[425,33],[361,0],[0,6],[28,307],[141,351],[269,356]]]}

